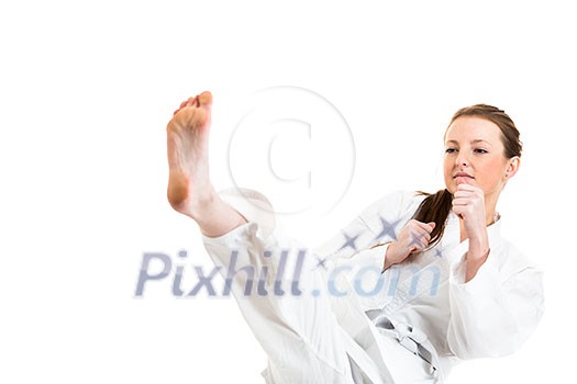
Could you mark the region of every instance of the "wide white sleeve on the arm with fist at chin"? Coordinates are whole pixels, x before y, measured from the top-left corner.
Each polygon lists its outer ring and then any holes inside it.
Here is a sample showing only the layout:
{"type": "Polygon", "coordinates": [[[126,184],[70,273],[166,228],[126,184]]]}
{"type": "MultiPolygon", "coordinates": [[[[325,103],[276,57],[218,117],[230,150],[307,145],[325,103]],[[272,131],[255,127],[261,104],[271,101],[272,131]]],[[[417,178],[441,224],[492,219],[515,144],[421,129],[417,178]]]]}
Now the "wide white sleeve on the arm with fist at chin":
{"type": "Polygon", "coordinates": [[[543,315],[543,274],[510,245],[491,249],[468,282],[466,256],[450,276],[448,347],[461,359],[518,350],[543,315]]]}

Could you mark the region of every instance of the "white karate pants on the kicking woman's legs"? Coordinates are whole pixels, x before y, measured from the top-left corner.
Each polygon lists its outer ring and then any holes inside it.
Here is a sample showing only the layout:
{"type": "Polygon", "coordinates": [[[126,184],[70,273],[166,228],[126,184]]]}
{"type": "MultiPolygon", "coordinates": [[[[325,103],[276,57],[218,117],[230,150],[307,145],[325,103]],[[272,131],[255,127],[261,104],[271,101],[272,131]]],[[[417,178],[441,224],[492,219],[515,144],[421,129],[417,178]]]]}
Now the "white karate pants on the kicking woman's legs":
{"type": "MultiPolygon", "coordinates": [[[[371,383],[347,354],[318,259],[278,228],[264,196],[221,195],[248,223],[204,236],[204,247],[268,357],[266,383],[371,383]]],[[[384,382],[435,382],[430,366],[395,338],[381,336],[378,348],[389,371],[384,382]]]]}

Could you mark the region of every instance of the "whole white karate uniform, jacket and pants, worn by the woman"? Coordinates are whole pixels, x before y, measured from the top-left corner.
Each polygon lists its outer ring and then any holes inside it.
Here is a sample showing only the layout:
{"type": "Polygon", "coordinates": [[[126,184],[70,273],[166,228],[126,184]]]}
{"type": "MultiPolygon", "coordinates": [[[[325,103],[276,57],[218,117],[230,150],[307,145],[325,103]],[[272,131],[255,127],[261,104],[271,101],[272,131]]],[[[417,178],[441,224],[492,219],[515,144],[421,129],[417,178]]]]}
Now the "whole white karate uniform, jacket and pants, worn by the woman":
{"type": "Polygon", "coordinates": [[[241,190],[223,197],[248,223],[204,237],[204,246],[223,273],[234,255],[232,293],[268,355],[267,383],[442,383],[462,359],[515,351],[542,316],[542,273],[500,236],[500,221],[487,228],[487,261],[465,283],[468,242],[459,241],[453,213],[434,248],[375,273],[424,199],[413,192],[371,204],[304,257],[264,196],[241,190]],[[301,295],[291,291],[293,275],[301,295]],[[371,290],[379,279],[381,289],[371,290]],[[262,291],[246,292],[247,280],[262,291]],[[279,287],[284,295],[275,294],[279,287]],[[413,340],[431,355],[412,353],[413,340]]]}

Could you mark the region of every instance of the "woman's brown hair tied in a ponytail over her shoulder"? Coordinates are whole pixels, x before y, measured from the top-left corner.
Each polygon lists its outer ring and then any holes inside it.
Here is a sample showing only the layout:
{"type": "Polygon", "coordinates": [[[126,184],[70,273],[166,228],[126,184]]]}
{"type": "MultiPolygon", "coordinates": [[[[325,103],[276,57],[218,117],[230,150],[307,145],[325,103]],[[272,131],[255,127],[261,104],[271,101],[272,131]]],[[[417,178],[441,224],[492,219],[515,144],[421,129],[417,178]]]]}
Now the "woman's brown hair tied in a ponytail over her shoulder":
{"type": "MultiPolygon", "coordinates": [[[[448,127],[455,120],[462,116],[475,116],[488,120],[501,129],[501,140],[504,147],[504,156],[511,159],[515,156],[521,156],[523,150],[523,144],[519,136],[519,129],[517,129],[513,121],[504,111],[499,110],[496,106],[487,104],[476,104],[471,106],[465,106],[458,110],[451,118],[448,127]]],[[[446,135],[446,131],[445,131],[446,135]]],[[[423,202],[419,205],[417,213],[413,218],[423,223],[435,223],[435,228],[431,233],[430,245],[434,246],[443,236],[445,231],[445,224],[453,207],[453,195],[448,190],[444,189],[436,193],[419,192],[420,194],[426,195],[423,202]]]]}

